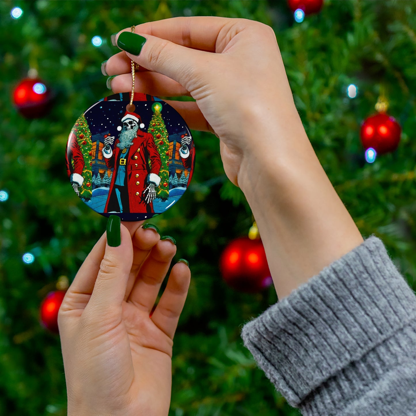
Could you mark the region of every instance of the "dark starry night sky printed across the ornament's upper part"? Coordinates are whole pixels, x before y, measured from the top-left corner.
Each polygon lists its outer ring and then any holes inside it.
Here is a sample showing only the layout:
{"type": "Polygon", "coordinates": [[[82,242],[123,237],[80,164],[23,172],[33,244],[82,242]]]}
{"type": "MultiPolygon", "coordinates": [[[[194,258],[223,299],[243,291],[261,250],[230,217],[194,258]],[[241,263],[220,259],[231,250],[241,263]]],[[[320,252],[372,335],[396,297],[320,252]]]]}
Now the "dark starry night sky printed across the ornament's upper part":
{"type": "MultiPolygon", "coordinates": [[[[91,134],[98,134],[102,131],[108,131],[110,136],[118,137],[119,131],[117,126],[122,126],[121,118],[126,112],[126,101],[100,101],[95,106],[90,108],[86,113],[85,117],[88,121],[89,129],[91,134]]],[[[150,120],[153,116],[152,105],[154,102],[150,101],[134,101],[136,114],[141,117],[142,123],[144,123],[144,131],[147,131],[150,120]]],[[[173,109],[169,104],[160,102],[162,105],[162,118],[165,121],[166,129],[168,134],[174,134],[178,131],[188,130],[188,134],[191,132],[188,129],[183,118],[178,112],[173,109]]]]}

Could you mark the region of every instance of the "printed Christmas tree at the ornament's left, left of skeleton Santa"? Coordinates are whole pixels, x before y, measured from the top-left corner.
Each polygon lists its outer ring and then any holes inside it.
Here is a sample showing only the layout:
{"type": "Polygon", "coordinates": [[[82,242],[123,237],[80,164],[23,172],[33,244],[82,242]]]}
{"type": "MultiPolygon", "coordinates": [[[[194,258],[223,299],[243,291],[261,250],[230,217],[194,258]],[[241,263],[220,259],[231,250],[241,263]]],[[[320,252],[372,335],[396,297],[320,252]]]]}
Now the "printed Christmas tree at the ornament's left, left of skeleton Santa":
{"type": "MultiPolygon", "coordinates": [[[[89,201],[92,197],[92,171],[89,160],[92,153],[92,141],[91,131],[89,131],[87,120],[84,114],[79,116],[72,128],[72,133],[77,137],[79,149],[81,149],[82,156],[84,158],[84,168],[82,169],[81,176],[84,178],[82,186],[78,187],[79,197],[85,201],[89,201]]],[[[74,167],[74,161],[71,161],[72,167],[74,167]]]]}

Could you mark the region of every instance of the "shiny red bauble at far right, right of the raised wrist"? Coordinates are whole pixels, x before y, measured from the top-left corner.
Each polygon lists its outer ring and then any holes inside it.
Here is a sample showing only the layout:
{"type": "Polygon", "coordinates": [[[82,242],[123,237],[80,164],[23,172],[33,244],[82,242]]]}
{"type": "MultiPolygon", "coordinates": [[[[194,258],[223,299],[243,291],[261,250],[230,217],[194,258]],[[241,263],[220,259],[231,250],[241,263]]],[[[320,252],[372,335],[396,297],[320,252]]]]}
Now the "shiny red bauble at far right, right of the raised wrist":
{"type": "Polygon", "coordinates": [[[361,125],[361,142],[364,149],[372,147],[377,154],[395,151],[399,145],[400,124],[385,113],[378,113],[365,119],[361,125]]]}

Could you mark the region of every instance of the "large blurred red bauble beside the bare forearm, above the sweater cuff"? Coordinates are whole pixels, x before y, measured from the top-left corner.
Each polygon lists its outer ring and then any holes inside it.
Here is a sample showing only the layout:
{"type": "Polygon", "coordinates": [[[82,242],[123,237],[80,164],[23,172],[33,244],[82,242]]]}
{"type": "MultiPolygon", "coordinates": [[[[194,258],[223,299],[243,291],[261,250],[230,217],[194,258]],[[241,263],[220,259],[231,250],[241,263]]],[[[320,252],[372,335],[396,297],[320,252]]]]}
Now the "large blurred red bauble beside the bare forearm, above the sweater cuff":
{"type": "Polygon", "coordinates": [[[272,283],[260,239],[240,237],[233,240],[221,255],[220,270],[225,282],[240,292],[259,292],[272,283]]]}

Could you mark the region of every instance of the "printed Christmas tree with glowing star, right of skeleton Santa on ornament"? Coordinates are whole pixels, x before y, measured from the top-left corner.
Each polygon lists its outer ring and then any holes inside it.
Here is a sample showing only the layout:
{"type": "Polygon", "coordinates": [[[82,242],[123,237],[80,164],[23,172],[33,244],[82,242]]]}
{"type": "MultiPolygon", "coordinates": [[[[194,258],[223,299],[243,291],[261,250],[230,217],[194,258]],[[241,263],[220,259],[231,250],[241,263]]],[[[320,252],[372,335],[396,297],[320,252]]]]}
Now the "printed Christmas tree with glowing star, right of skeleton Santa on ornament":
{"type": "Polygon", "coordinates": [[[159,171],[160,185],[156,188],[156,198],[166,201],[169,197],[169,141],[168,131],[162,118],[162,103],[152,105],[153,116],[147,131],[154,137],[162,164],[159,171]]]}

